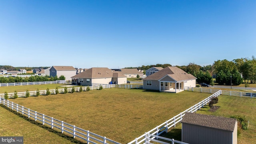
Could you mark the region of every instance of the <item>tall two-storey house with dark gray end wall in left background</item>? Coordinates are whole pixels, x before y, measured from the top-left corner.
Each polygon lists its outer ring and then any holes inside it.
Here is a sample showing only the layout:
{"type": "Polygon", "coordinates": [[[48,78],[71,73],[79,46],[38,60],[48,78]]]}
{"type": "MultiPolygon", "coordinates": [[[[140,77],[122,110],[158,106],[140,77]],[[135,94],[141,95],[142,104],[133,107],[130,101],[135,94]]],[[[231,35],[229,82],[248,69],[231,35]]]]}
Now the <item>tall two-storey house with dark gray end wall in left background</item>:
{"type": "Polygon", "coordinates": [[[65,76],[66,80],[72,80],[71,77],[76,75],[76,69],[73,66],[52,66],[50,76],[65,76]]]}

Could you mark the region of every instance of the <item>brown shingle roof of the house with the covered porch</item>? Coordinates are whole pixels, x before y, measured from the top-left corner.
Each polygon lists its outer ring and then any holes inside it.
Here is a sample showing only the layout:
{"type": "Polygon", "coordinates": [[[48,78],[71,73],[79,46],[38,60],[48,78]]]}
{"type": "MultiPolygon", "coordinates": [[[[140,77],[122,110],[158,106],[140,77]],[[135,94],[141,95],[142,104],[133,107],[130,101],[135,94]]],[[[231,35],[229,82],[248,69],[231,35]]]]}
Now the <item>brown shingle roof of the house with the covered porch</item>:
{"type": "Polygon", "coordinates": [[[186,73],[184,70],[175,67],[175,66],[168,66],[154,74],[151,74],[150,76],[147,76],[143,80],[160,80],[164,76],[170,76],[174,80],[181,81],[181,80],[191,80],[196,79],[192,74],[186,73]]]}

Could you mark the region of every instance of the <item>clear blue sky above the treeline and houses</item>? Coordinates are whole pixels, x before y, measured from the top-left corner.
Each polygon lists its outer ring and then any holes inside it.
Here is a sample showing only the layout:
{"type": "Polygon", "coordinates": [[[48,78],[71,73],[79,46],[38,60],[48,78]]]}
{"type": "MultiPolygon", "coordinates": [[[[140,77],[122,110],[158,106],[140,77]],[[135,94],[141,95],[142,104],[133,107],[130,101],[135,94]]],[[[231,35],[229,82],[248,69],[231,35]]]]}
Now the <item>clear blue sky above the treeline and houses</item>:
{"type": "Polygon", "coordinates": [[[201,66],[256,56],[256,0],[0,0],[0,65],[201,66]]]}

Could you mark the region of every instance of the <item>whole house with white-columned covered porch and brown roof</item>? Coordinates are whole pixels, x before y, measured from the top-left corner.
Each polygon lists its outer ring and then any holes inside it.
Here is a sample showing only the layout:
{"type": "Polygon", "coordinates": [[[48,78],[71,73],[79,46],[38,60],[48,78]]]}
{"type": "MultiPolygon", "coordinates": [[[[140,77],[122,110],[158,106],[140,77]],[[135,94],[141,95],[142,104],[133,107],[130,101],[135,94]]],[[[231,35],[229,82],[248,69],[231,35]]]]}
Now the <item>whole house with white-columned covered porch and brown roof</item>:
{"type": "Polygon", "coordinates": [[[196,87],[196,77],[184,70],[168,66],[143,79],[143,89],[181,92],[185,86],[196,87]]]}

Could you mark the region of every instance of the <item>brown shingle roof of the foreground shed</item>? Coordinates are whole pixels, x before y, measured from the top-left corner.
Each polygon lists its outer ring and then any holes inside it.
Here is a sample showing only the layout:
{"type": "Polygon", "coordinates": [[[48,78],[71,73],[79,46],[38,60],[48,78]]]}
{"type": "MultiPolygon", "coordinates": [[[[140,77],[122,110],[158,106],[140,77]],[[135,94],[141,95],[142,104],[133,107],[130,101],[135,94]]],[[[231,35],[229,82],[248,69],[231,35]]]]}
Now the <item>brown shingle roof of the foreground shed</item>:
{"type": "Polygon", "coordinates": [[[186,112],[181,123],[234,131],[236,119],[186,112]]]}

